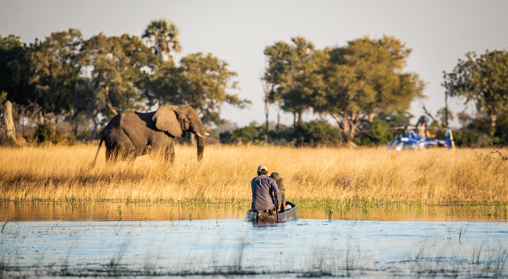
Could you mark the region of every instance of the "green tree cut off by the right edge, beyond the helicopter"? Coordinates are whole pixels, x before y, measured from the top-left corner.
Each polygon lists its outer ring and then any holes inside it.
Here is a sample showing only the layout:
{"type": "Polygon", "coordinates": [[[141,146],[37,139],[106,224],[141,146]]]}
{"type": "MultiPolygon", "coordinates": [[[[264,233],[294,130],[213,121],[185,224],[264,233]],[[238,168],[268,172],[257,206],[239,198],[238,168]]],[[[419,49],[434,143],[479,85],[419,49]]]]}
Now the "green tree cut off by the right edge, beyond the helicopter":
{"type": "Polygon", "coordinates": [[[496,131],[496,119],[508,111],[508,51],[494,50],[477,57],[474,52],[465,54],[451,73],[443,71],[446,94],[465,97],[473,101],[478,110],[490,117],[490,136],[496,131]]]}

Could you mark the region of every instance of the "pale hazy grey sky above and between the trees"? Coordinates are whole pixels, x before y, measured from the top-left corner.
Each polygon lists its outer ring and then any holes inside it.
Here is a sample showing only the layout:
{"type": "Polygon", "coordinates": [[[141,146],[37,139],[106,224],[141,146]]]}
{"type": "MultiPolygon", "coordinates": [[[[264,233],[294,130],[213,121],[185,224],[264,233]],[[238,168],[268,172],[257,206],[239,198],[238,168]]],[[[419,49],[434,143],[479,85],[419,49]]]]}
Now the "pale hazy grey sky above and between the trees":
{"type": "MultiPolygon", "coordinates": [[[[83,37],[104,32],[141,36],[155,19],[167,19],[179,29],[182,56],[203,52],[226,60],[240,90],[252,101],[248,109],[226,104],[221,117],[248,125],[264,122],[260,74],[263,50],[277,41],[303,36],[316,48],[343,46],[363,36],[395,36],[412,49],[406,72],[418,73],[426,83],[424,100],[415,100],[410,113],[416,122],[423,114],[420,102],[435,114],[444,106],[442,71],[450,72],[469,51],[508,48],[508,1],[20,1],[0,2],[0,34],[15,34],[22,42],[43,39],[51,32],[78,28],[83,37]]],[[[463,111],[463,100],[449,106],[463,111]]],[[[470,104],[467,111],[474,109],[470,104]]],[[[277,120],[276,106],[270,120],[277,120]]],[[[280,121],[292,124],[291,114],[280,121]]],[[[308,113],[308,121],[317,116],[308,113]]],[[[458,126],[457,120],[452,126],[458,126]]]]}

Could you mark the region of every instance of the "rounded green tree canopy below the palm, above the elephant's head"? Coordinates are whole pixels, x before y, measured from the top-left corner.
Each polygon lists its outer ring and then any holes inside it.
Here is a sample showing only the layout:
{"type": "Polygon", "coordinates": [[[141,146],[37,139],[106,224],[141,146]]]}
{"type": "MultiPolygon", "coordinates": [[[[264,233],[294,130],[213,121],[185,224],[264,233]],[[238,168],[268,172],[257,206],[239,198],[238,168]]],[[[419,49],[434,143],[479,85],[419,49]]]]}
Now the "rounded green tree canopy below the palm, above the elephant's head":
{"type": "Polygon", "coordinates": [[[236,72],[229,71],[228,63],[211,53],[193,53],[182,57],[180,66],[164,61],[146,82],[145,94],[149,105],[181,103],[193,107],[204,124],[220,124],[223,103],[244,108],[249,100],[241,100],[228,89],[238,88],[232,81],[236,72]]]}

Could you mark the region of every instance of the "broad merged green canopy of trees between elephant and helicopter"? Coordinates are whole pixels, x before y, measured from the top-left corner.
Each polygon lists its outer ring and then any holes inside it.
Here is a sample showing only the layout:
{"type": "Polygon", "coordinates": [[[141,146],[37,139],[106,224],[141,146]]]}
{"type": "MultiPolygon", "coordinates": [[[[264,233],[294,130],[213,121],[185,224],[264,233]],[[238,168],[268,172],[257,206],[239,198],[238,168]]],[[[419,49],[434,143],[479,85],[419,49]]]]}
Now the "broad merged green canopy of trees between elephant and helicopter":
{"type": "Polygon", "coordinates": [[[362,121],[379,113],[406,111],[423,97],[424,83],[403,72],[411,49],[395,37],[360,38],[346,46],[316,50],[304,38],[265,48],[264,80],[274,84],[271,101],[301,119],[309,109],[329,114],[353,137],[362,121]]]}

